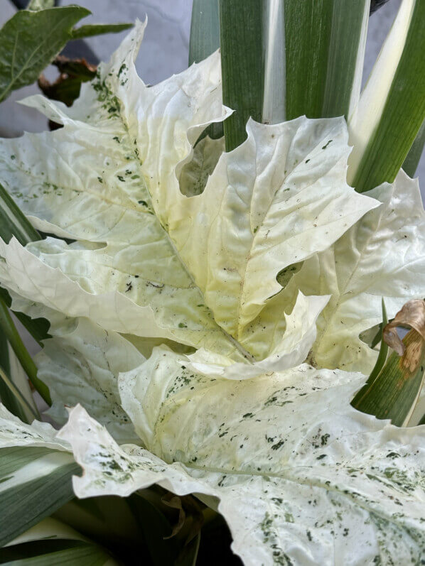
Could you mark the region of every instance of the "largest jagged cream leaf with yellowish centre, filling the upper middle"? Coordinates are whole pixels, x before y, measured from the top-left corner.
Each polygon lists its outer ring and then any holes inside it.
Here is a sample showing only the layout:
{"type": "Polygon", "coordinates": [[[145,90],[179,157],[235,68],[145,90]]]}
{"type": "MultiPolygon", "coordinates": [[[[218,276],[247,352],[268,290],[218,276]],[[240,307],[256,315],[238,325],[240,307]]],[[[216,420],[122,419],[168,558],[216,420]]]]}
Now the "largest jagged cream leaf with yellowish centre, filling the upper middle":
{"type": "Polygon", "coordinates": [[[71,109],[27,102],[62,129],[1,142],[1,178],[33,224],[77,240],[2,246],[9,286],[106,330],[240,361],[265,357],[284,315],[262,317],[281,290],[276,275],[378,203],[345,183],[343,119],[251,121],[247,141],[222,153],[203,193],[183,195],[178,178],[193,144],[227,115],[220,58],[146,87],[134,69],[143,27],[71,109]]]}

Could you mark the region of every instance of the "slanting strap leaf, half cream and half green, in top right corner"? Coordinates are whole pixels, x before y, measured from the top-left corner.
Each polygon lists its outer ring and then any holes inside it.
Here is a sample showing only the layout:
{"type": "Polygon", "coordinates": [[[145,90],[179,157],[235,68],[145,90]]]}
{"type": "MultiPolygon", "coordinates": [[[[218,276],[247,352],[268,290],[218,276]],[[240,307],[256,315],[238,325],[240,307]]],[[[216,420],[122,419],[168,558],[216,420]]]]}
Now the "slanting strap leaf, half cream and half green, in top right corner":
{"type": "Polygon", "coordinates": [[[425,119],[425,1],[403,0],[350,116],[348,181],[363,192],[391,183],[425,119]]]}

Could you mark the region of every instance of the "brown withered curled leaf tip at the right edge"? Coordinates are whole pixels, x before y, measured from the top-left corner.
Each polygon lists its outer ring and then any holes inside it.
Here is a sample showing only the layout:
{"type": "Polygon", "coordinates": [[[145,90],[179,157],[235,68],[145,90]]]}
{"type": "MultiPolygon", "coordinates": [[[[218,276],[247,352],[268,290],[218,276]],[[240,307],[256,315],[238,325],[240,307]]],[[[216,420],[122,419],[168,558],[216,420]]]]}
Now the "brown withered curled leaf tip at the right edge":
{"type": "Polygon", "coordinates": [[[415,368],[419,363],[419,360],[416,359],[421,356],[422,346],[425,341],[425,301],[421,299],[409,300],[402,310],[397,312],[394,320],[384,327],[384,341],[399,356],[403,356],[405,347],[397,334],[397,327],[414,330],[413,339],[409,341],[409,352],[406,352],[409,355],[404,356],[403,365],[409,369],[411,367],[415,368]],[[415,360],[416,364],[414,364],[415,360]]]}

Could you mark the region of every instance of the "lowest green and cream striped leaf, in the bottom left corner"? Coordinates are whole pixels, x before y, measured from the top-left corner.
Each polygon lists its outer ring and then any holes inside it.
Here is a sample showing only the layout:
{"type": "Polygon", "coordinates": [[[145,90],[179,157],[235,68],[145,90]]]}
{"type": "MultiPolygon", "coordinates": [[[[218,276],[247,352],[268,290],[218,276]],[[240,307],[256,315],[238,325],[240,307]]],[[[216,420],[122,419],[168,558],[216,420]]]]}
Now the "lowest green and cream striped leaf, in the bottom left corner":
{"type": "Polygon", "coordinates": [[[68,525],[45,518],[0,549],[0,562],[9,566],[114,566],[116,562],[68,525]]]}

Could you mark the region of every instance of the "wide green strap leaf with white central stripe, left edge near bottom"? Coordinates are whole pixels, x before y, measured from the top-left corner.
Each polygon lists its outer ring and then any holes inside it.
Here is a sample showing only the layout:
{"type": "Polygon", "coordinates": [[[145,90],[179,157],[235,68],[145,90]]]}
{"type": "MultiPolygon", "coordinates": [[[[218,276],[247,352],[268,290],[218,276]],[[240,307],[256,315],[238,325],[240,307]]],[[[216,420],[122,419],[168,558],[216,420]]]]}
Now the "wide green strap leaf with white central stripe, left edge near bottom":
{"type": "Polygon", "coordinates": [[[68,452],[40,447],[0,449],[0,546],[49,516],[74,496],[79,472],[68,452]]]}

